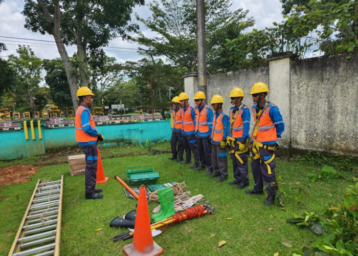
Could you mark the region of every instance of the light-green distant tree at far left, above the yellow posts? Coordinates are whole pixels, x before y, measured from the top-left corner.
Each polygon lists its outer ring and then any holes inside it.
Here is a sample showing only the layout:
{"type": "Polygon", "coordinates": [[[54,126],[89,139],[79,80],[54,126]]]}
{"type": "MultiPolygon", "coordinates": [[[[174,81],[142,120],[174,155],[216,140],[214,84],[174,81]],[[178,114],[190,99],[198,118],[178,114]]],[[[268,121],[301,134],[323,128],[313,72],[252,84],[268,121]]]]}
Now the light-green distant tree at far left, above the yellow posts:
{"type": "Polygon", "coordinates": [[[37,58],[28,46],[19,46],[16,50],[18,57],[11,54],[8,62],[16,72],[15,87],[17,107],[23,111],[34,110],[35,104],[38,110],[46,104],[43,90],[40,89],[42,61],[37,58]],[[34,104],[35,102],[35,104],[34,104]]]}

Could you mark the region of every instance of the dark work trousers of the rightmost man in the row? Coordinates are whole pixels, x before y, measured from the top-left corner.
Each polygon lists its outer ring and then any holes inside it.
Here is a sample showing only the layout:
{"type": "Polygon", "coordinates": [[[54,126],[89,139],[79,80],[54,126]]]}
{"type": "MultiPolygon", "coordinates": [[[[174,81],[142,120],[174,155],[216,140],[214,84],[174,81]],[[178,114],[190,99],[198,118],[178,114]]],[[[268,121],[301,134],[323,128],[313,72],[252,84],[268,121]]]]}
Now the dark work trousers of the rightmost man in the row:
{"type": "MultiPolygon", "coordinates": [[[[276,174],[275,174],[275,167],[276,162],[275,160],[269,163],[271,167],[271,174],[267,173],[267,166],[263,163],[264,159],[269,159],[274,151],[266,150],[265,148],[260,147],[259,150],[260,158],[253,160],[251,162],[252,168],[252,175],[254,176],[254,189],[257,191],[262,191],[263,184],[266,186],[270,182],[276,182],[276,174]]],[[[267,186],[267,195],[269,196],[276,196],[276,188],[272,186],[267,186]]]]}

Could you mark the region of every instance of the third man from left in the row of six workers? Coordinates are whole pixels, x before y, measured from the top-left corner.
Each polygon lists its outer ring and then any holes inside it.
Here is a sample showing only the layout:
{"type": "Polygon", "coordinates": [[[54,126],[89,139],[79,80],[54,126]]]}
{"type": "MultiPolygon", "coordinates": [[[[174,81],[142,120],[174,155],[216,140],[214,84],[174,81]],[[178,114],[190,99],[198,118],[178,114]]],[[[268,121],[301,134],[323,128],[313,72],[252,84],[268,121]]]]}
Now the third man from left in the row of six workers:
{"type": "Polygon", "coordinates": [[[195,139],[200,166],[196,166],[194,170],[204,170],[208,167],[208,171],[212,172],[210,136],[213,127],[213,111],[204,103],[204,99],[204,92],[195,93],[195,139]]]}

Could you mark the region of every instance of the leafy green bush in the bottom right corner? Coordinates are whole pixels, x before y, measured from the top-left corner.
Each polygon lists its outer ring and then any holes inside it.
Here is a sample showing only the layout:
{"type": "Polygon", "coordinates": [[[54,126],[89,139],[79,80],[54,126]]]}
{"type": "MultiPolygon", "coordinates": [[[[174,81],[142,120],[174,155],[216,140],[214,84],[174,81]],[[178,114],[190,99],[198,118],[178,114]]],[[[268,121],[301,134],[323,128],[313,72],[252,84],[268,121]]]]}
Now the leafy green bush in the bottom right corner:
{"type": "MultiPolygon", "coordinates": [[[[312,244],[312,249],[304,250],[304,253],[298,250],[292,251],[298,255],[357,255],[357,235],[358,235],[358,182],[355,185],[346,187],[346,198],[343,204],[337,207],[330,207],[325,213],[325,218],[310,212],[305,212],[304,221],[302,216],[296,216],[287,219],[287,222],[297,225],[305,225],[309,223],[312,231],[324,230],[322,237],[317,238],[312,244]],[[313,216],[313,217],[312,217],[313,216]],[[311,225],[314,222],[315,225],[311,225]],[[320,222],[319,225],[317,223],[320,222]],[[322,225],[321,225],[322,224],[322,225]],[[314,229],[312,229],[314,226],[314,229]],[[323,228],[322,228],[323,226],[323,228]],[[321,254],[319,254],[321,253],[321,254]]],[[[317,233],[319,234],[319,233],[317,233]]]]}

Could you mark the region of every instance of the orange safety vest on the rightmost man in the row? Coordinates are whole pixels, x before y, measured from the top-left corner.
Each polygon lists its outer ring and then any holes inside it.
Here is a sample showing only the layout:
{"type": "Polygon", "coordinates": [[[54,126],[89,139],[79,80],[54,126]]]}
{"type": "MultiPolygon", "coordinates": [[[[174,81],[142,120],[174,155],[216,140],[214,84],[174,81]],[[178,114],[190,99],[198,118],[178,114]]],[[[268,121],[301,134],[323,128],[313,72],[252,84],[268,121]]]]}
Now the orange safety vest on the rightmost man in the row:
{"type": "MultiPolygon", "coordinates": [[[[256,138],[252,139],[256,139],[258,142],[274,142],[277,140],[276,127],[269,115],[270,109],[274,106],[272,103],[266,106],[259,119],[256,138]]],[[[254,122],[256,122],[256,108],[254,106],[252,107],[252,113],[254,122]]]]}

